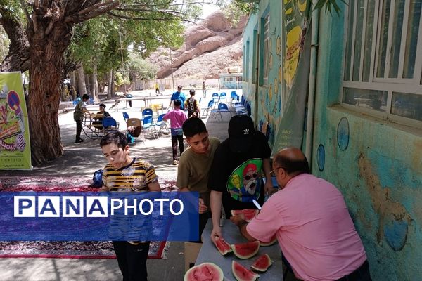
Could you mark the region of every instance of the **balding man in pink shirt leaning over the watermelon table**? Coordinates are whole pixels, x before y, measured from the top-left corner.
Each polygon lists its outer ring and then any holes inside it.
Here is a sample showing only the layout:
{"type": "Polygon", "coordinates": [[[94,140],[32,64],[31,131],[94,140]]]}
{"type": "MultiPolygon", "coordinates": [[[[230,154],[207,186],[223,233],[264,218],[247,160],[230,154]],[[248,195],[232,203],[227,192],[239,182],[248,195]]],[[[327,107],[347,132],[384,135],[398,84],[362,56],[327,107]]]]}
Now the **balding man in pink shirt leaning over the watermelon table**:
{"type": "Polygon", "coordinates": [[[281,190],[250,223],[231,217],[241,234],[262,242],[276,236],[286,266],[300,280],[370,281],[364,246],[341,192],[309,174],[298,148],[277,152],[273,167],[281,190]]]}

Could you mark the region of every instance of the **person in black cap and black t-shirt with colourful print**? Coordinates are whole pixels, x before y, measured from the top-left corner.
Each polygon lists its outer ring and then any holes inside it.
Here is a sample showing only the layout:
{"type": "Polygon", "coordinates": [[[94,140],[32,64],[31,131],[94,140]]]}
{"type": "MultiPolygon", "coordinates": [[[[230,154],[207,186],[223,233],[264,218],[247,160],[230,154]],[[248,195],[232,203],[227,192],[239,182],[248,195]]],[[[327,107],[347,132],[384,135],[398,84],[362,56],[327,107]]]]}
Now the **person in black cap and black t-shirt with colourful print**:
{"type": "Polygon", "coordinates": [[[226,218],[231,210],[257,209],[252,200],[264,203],[264,196],[272,188],[267,138],[248,115],[236,115],[229,122],[229,138],[215,151],[208,186],[211,189],[211,240],[222,237],[219,225],[222,205],[226,218]],[[262,178],[265,177],[265,185],[262,178]]]}

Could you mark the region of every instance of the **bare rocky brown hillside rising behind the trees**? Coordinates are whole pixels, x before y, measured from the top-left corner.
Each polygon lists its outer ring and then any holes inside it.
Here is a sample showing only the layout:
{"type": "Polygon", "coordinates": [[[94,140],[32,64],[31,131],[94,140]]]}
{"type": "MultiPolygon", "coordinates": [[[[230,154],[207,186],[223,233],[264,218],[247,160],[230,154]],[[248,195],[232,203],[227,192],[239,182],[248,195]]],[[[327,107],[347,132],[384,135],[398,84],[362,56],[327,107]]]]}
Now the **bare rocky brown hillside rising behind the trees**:
{"type": "Polygon", "coordinates": [[[158,79],[174,77],[183,79],[217,79],[229,67],[242,68],[242,32],[246,18],[232,26],[220,11],[212,13],[198,25],[188,27],[185,42],[179,50],[160,48],[148,60],[158,65],[158,79]]]}

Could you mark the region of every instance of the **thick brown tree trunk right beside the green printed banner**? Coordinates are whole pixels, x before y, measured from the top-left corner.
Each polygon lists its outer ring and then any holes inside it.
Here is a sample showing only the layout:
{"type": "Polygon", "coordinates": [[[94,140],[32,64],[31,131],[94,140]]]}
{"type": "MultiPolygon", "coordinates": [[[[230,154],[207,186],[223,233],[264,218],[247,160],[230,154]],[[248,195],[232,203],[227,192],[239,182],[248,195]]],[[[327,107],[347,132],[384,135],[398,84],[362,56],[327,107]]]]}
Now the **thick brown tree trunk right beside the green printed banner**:
{"type": "Polygon", "coordinates": [[[62,41],[59,44],[39,33],[33,34],[30,41],[32,41],[30,48],[31,93],[28,96],[28,119],[32,164],[37,166],[63,155],[58,124],[58,105],[65,42],[62,41]]]}

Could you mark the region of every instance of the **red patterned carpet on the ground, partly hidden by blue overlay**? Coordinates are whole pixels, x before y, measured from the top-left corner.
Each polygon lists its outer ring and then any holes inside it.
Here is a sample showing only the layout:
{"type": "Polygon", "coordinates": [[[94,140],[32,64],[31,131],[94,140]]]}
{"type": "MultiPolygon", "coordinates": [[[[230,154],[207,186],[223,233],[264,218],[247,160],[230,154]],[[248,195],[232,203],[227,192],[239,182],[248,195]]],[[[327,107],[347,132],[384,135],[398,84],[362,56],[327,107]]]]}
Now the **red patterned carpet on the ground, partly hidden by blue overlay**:
{"type": "MultiPolygon", "coordinates": [[[[162,190],[175,188],[174,178],[160,178],[162,190]]],[[[0,191],[82,192],[91,188],[90,179],[78,177],[0,177],[0,191]]],[[[165,259],[170,242],[151,242],[149,259],[165,259]]],[[[114,259],[111,242],[79,241],[0,241],[0,258],[114,259]]]]}

